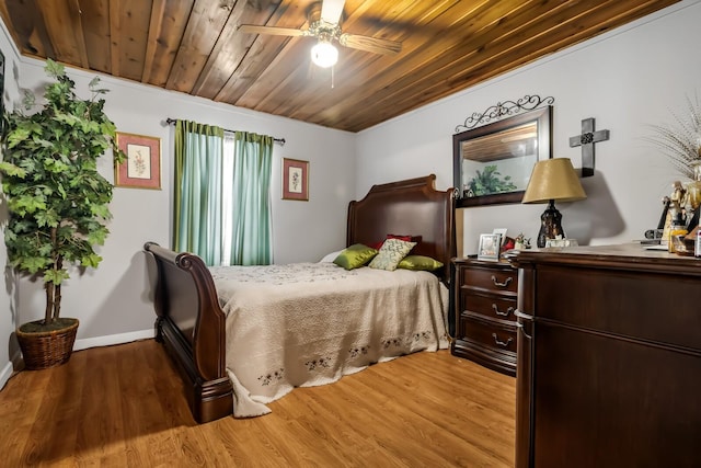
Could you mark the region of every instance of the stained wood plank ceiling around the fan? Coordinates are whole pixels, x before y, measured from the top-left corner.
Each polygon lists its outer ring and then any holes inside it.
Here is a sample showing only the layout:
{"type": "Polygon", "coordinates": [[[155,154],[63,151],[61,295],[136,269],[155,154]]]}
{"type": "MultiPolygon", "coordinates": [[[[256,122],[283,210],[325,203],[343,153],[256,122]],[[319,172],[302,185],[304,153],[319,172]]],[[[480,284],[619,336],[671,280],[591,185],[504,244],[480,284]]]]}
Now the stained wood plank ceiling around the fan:
{"type": "Polygon", "coordinates": [[[25,56],[359,132],[677,1],[347,0],[344,32],[402,50],[338,47],[333,77],[312,37],[237,31],[307,28],[313,0],[0,0],[0,14],[25,56]]]}

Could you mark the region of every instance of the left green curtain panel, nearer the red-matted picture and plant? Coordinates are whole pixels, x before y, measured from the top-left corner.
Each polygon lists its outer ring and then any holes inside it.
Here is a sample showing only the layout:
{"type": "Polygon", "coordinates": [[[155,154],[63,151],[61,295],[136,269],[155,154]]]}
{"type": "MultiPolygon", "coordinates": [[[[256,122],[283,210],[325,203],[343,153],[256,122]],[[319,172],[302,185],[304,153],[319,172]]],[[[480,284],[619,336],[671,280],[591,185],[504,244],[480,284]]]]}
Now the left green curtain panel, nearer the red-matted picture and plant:
{"type": "Polygon", "coordinates": [[[175,123],[173,249],[207,265],[221,259],[222,146],[222,128],[175,123]]]}

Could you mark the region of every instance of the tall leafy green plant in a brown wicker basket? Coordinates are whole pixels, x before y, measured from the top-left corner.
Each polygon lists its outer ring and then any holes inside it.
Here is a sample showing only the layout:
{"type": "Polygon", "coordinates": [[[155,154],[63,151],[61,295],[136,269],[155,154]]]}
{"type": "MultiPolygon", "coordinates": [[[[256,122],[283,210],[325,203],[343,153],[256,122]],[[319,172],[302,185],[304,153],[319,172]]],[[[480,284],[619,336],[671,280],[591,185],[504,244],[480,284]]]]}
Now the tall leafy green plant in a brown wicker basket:
{"type": "Polygon", "coordinates": [[[97,172],[96,160],[110,148],[115,159],[116,127],[104,113],[106,92],[90,82],[91,99],[76,95],[64,66],[48,60],[53,79],[36,109],[25,91],[22,106],[4,115],[2,191],[9,220],[4,229],[10,265],[21,275],[41,278],[46,292],[44,319],[16,330],[25,367],[45,368],[68,361],[78,320],[60,317],[61,284],[68,265],[96,267],[94,251],[108,233],[113,185],[97,172]]]}

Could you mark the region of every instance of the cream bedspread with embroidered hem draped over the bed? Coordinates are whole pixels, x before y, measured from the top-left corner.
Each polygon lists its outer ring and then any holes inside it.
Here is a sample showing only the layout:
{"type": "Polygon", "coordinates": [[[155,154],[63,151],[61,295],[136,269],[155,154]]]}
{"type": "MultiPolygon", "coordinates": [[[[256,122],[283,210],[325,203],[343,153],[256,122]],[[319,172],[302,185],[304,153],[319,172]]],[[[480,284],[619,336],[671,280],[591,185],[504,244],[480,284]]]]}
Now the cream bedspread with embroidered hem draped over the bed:
{"type": "Polygon", "coordinates": [[[227,313],[235,418],[268,413],[295,387],[448,347],[448,289],[432,273],[329,262],[209,270],[227,313]]]}

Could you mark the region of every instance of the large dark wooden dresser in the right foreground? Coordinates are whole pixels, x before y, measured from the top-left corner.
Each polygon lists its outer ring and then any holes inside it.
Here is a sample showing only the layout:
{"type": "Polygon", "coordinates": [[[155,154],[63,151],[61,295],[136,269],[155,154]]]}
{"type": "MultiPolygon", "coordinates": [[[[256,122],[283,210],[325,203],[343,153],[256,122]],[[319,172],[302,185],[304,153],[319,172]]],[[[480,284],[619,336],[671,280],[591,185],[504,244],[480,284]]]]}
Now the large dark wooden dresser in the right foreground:
{"type": "Polygon", "coordinates": [[[520,251],[516,467],[701,466],[701,259],[520,251]]]}

